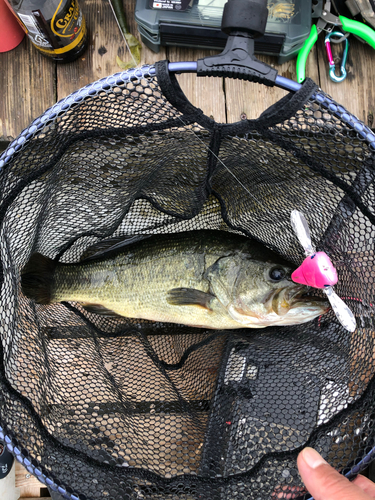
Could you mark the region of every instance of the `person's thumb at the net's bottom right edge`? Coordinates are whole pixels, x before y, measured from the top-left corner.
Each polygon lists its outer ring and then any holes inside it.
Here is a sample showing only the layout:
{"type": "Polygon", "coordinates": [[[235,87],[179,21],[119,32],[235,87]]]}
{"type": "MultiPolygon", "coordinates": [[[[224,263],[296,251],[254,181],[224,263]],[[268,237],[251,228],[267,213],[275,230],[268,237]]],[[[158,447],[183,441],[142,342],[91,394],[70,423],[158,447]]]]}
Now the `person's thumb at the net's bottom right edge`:
{"type": "Polygon", "coordinates": [[[297,465],[302,481],[315,500],[373,500],[359,486],[328,465],[312,448],[301,451],[297,465]]]}

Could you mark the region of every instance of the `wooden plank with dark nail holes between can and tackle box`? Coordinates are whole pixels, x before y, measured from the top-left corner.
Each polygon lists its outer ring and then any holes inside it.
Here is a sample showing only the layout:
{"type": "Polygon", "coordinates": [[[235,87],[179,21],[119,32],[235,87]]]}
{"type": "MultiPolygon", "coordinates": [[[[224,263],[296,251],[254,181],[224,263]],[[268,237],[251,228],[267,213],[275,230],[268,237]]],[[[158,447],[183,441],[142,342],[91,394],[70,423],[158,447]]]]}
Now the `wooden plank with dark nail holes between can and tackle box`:
{"type": "MultiPolygon", "coordinates": [[[[129,29],[140,40],[134,8],[135,2],[124,2],[129,29]]],[[[82,4],[82,11],[89,27],[89,47],[77,61],[57,66],[58,100],[100,78],[123,71],[116,62],[116,56],[124,62],[131,61],[109,2],[87,0],[82,4]]],[[[155,54],[142,44],[141,65],[164,58],[165,51],[155,54]]]]}

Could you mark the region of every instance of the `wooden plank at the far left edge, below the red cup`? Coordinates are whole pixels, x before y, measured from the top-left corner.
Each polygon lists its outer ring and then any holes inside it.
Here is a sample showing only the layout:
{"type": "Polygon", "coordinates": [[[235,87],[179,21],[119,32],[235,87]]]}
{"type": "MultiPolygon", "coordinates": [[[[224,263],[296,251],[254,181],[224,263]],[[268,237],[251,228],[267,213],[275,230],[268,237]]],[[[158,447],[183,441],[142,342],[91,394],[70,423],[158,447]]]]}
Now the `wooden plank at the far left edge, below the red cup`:
{"type": "Polygon", "coordinates": [[[12,51],[0,53],[0,141],[16,138],[54,104],[55,64],[27,37],[12,51]]]}

